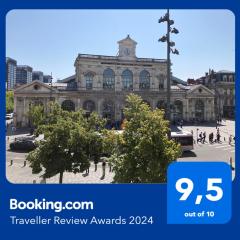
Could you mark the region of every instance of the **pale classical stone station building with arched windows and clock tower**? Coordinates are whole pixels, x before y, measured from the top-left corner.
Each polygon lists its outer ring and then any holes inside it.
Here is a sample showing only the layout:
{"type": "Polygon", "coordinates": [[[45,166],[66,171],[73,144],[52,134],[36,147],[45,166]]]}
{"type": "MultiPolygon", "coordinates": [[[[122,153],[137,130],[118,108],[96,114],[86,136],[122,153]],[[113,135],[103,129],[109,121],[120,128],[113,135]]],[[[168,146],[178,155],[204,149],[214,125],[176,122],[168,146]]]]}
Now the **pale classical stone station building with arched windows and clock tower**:
{"type": "MultiPolygon", "coordinates": [[[[66,110],[83,108],[109,121],[121,121],[126,96],[140,95],[152,108],[166,106],[167,62],[165,59],[138,58],[137,43],[129,36],[118,42],[117,56],[79,54],[75,74],[60,83],[47,85],[34,81],[14,92],[14,122],[29,124],[32,104],[47,108],[50,99],[66,110]]],[[[185,121],[214,121],[214,93],[203,85],[171,87],[171,118],[185,121]]]]}

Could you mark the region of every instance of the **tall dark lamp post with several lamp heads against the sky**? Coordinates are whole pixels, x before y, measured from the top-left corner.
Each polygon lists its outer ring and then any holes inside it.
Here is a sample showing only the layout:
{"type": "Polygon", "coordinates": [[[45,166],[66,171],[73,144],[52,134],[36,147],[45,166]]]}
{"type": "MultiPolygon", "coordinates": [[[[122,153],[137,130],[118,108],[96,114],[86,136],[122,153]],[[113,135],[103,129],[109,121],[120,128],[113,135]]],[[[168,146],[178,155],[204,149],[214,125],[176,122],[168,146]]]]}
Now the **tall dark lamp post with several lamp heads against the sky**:
{"type": "MultiPolygon", "coordinates": [[[[173,49],[175,46],[175,42],[172,42],[170,40],[171,33],[178,34],[179,31],[173,27],[174,21],[170,19],[169,15],[169,9],[167,10],[167,13],[161,17],[158,20],[158,23],[164,23],[167,22],[167,34],[159,38],[159,42],[166,42],[167,43],[167,111],[166,111],[166,117],[167,120],[171,121],[171,110],[170,110],[170,94],[171,94],[171,60],[170,60],[170,53],[172,54],[179,54],[178,50],[176,48],[173,49]]],[[[170,133],[169,133],[170,134],[170,133]]],[[[170,135],[169,135],[170,137],[170,135]]]]}

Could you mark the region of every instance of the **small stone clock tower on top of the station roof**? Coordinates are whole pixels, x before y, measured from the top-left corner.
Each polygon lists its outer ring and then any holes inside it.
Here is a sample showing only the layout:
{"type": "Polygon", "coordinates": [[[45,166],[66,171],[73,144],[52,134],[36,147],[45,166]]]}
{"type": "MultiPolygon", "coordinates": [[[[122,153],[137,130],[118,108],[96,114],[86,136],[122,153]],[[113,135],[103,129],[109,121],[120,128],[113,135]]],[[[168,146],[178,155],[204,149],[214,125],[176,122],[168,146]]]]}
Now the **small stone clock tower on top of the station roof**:
{"type": "Polygon", "coordinates": [[[137,42],[135,42],[133,39],[130,38],[129,35],[127,35],[126,38],[118,41],[118,57],[120,59],[126,59],[126,60],[135,60],[136,59],[136,45],[137,42]]]}

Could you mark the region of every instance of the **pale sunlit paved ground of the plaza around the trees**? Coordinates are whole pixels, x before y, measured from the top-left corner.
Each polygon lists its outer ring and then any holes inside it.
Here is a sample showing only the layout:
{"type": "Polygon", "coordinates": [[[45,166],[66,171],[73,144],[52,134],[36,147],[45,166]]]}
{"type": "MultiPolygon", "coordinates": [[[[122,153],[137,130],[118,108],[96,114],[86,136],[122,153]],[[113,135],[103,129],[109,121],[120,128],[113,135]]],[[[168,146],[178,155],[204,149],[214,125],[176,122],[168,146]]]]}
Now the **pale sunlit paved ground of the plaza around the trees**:
{"type": "MultiPolygon", "coordinates": [[[[179,128],[180,129],[180,128],[179,128]]],[[[186,152],[177,161],[220,161],[229,163],[229,158],[233,159],[233,166],[235,167],[235,143],[229,145],[228,138],[230,135],[235,136],[235,121],[223,121],[222,125],[219,126],[219,131],[221,135],[221,143],[210,144],[208,142],[208,134],[213,132],[216,135],[215,125],[194,125],[188,126],[184,125],[182,130],[193,131],[194,134],[194,150],[191,152],[186,152]],[[196,143],[197,132],[206,132],[207,142],[205,144],[196,143]],[[225,141],[224,141],[225,138],[225,141]]],[[[9,135],[9,134],[8,134],[9,135]]],[[[9,142],[13,141],[16,136],[27,135],[24,131],[18,132],[18,135],[11,135],[9,139],[7,137],[6,141],[6,177],[12,183],[36,183],[41,182],[41,174],[32,174],[31,168],[24,166],[24,161],[26,159],[27,153],[19,153],[9,151],[9,142]],[[11,160],[13,160],[13,165],[11,165],[11,160]]],[[[233,171],[233,177],[235,171],[233,171]]],[[[94,164],[91,164],[89,175],[85,176],[82,173],[64,173],[63,183],[111,183],[113,180],[114,173],[109,172],[108,166],[106,167],[106,175],[104,179],[102,177],[102,167],[101,163],[98,164],[98,169],[95,172],[94,164]]],[[[59,176],[47,179],[47,183],[58,183],[59,176]]]]}

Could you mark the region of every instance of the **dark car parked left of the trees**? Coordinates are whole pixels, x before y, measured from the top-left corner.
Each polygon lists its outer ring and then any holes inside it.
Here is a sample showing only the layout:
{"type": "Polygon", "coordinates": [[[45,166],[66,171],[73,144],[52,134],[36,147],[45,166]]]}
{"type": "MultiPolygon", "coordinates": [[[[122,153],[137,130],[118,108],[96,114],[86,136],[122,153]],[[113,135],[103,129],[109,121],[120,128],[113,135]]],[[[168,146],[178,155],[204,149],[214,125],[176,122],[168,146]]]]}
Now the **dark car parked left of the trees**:
{"type": "Polygon", "coordinates": [[[32,151],[36,148],[34,137],[19,137],[10,143],[12,151],[32,151]]]}

